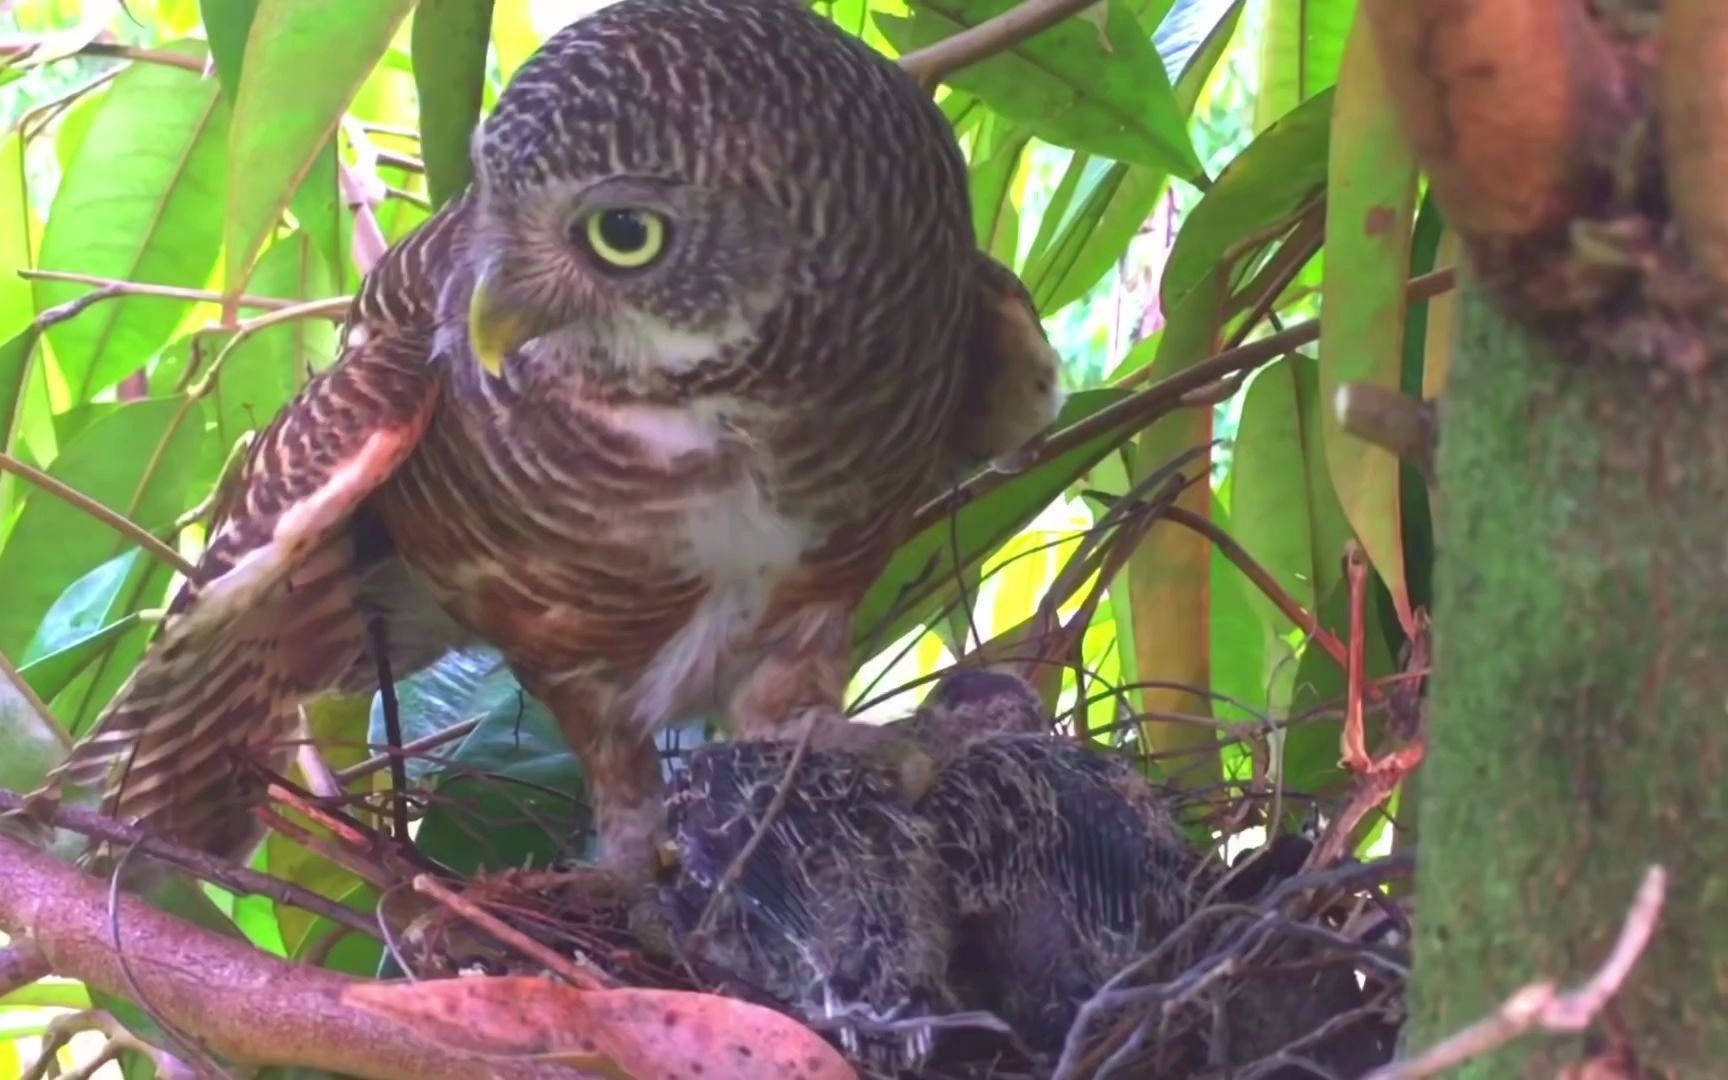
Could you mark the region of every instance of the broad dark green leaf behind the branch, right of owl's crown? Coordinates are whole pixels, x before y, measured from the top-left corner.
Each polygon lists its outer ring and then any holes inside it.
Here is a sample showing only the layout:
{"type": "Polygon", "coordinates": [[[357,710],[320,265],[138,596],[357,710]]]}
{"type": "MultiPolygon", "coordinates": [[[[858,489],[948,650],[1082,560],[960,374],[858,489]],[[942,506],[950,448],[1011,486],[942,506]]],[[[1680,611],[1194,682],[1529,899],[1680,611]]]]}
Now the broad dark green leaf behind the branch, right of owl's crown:
{"type": "MultiPolygon", "coordinates": [[[[1016,2],[916,0],[911,17],[878,14],[876,24],[905,54],[1016,2]]],[[[1109,2],[1102,26],[1096,19],[1064,19],[947,81],[1028,124],[1045,142],[1156,166],[1185,180],[1201,175],[1158,52],[1120,0],[1109,2]]]]}

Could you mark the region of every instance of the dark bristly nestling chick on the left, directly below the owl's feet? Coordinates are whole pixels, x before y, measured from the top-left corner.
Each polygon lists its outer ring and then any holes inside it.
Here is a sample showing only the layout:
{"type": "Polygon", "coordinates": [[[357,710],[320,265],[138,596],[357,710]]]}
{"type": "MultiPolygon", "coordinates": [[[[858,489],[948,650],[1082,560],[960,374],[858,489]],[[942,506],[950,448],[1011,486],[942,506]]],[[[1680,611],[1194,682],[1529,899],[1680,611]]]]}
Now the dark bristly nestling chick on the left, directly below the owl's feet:
{"type": "Polygon", "coordinates": [[[893,769],[810,750],[788,774],[793,752],[783,741],[705,746],[674,781],[679,867],[664,890],[674,933],[691,959],[836,1033],[850,1056],[916,1070],[933,1037],[916,1021],[956,1007],[935,836],[904,805],[893,769]]]}

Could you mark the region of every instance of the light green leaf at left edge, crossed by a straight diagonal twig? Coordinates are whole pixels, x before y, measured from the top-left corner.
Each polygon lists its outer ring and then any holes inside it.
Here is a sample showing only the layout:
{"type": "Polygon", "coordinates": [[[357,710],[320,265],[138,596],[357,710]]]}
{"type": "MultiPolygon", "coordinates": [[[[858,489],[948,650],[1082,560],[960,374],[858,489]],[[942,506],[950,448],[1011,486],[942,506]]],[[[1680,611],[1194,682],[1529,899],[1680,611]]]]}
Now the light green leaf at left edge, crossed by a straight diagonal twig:
{"type": "MultiPolygon", "coordinates": [[[[183,406],[176,397],[118,406],[71,439],[48,472],[145,529],[162,527],[187,508],[204,441],[204,425],[197,415],[185,416],[183,406]]],[[[60,593],[126,546],[76,506],[29,491],[0,548],[0,581],[7,582],[0,651],[19,655],[60,593]]]]}

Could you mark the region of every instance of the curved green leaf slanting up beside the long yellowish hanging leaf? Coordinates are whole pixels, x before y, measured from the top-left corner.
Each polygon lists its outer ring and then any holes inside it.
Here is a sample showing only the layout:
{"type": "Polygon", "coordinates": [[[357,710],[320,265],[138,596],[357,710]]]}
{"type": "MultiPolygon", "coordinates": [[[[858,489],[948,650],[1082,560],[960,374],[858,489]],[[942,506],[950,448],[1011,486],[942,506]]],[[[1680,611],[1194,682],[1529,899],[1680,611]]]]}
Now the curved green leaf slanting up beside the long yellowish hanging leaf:
{"type": "Polygon", "coordinates": [[[1189,213],[1165,266],[1163,306],[1173,311],[1242,240],[1289,221],[1325,187],[1332,93],[1308,100],[1260,135],[1218,175],[1189,213]]]}

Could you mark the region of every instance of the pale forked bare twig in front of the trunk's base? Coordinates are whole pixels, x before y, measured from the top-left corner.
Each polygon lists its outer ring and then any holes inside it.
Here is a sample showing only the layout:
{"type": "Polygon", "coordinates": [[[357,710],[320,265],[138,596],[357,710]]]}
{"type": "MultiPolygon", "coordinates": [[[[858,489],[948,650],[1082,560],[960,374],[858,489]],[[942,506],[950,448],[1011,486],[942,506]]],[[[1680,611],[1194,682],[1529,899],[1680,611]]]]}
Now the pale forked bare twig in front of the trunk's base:
{"type": "Polygon", "coordinates": [[[1638,895],[1633,897],[1626,921],[1621,924],[1614,949],[1581,987],[1560,994],[1555,980],[1545,978],[1512,992],[1498,1009],[1471,1026],[1443,1039],[1420,1056],[1388,1064],[1369,1073],[1367,1080],[1422,1080],[1448,1068],[1464,1064],[1496,1051],[1526,1032],[1572,1035],[1588,1028],[1604,1006],[1609,1004],[1631,975],[1633,964],[1643,956],[1655,933],[1668,893],[1668,871],[1652,866],[1643,873],[1638,895]]]}

